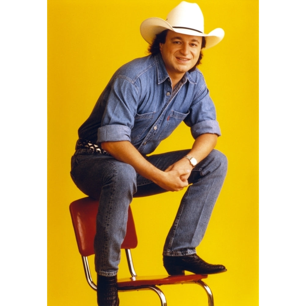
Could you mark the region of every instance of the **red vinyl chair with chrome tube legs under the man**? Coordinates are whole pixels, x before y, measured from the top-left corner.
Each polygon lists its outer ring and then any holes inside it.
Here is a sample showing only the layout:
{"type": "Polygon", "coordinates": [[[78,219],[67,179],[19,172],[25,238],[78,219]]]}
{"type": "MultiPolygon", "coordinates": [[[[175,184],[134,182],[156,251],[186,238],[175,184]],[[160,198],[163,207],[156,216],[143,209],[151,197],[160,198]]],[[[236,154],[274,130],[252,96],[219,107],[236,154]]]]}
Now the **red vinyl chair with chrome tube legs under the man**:
{"type": "MultiPolygon", "coordinates": [[[[98,211],[99,201],[90,197],[85,197],[73,201],[70,206],[70,215],[73,223],[76,243],[82,257],[84,272],[86,280],[90,287],[94,290],[97,286],[91,278],[91,270],[88,263],[88,256],[94,254],[94,237],[96,231],[96,215],[98,211]]],[[[211,289],[203,282],[202,279],[207,278],[207,275],[202,274],[188,274],[188,275],[150,275],[138,276],[136,275],[134,264],[132,261],[131,249],[137,247],[137,235],[135,223],[132,215],[131,207],[129,207],[129,217],[127,223],[127,231],[125,239],[121,245],[121,249],[125,249],[127,263],[129,267],[130,276],[127,278],[118,279],[118,290],[153,290],[158,294],[161,301],[161,306],[166,306],[166,297],[159,288],[161,285],[173,285],[184,283],[195,283],[203,287],[208,297],[208,305],[214,306],[213,295],[211,289]]]]}

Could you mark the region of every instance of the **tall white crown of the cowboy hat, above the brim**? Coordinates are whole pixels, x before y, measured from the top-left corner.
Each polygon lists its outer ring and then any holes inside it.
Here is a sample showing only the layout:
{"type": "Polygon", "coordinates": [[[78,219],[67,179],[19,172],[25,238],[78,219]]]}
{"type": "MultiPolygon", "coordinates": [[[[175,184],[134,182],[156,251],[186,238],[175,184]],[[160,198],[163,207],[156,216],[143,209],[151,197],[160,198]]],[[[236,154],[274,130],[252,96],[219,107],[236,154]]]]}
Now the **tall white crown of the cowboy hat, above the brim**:
{"type": "Polygon", "coordinates": [[[170,11],[166,21],[173,28],[188,28],[204,33],[203,13],[196,3],[182,1],[170,11]]]}

